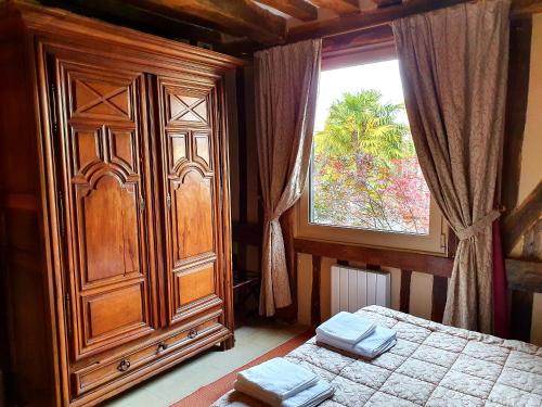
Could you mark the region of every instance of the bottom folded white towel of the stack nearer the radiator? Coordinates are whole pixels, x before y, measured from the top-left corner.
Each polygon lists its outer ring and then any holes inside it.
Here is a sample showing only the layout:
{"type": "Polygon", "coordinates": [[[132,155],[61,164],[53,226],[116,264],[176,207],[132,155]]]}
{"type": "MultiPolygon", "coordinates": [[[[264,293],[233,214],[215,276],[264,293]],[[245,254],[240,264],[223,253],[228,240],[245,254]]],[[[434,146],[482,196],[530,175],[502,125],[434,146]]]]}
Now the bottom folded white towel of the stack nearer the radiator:
{"type": "Polygon", "coordinates": [[[372,334],[361,340],[356,345],[350,345],[343,341],[337,341],[334,338],[318,333],[317,341],[367,359],[373,359],[384,352],[389,351],[397,343],[396,331],[379,326],[376,326],[372,334]]]}

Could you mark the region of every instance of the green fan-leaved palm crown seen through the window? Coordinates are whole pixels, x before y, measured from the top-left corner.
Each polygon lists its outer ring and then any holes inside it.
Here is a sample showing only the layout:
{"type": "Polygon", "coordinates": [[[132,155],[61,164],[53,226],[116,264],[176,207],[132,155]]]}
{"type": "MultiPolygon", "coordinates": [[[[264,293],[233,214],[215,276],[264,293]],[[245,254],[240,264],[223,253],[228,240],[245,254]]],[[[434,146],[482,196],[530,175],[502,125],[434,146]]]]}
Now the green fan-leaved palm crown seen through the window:
{"type": "Polygon", "coordinates": [[[315,135],[315,153],[328,158],[353,154],[359,171],[367,156],[380,158],[383,164],[412,156],[414,145],[404,137],[409,127],[397,122],[404,105],[382,103],[380,99],[377,90],[361,90],[335,101],[324,129],[315,135]]]}

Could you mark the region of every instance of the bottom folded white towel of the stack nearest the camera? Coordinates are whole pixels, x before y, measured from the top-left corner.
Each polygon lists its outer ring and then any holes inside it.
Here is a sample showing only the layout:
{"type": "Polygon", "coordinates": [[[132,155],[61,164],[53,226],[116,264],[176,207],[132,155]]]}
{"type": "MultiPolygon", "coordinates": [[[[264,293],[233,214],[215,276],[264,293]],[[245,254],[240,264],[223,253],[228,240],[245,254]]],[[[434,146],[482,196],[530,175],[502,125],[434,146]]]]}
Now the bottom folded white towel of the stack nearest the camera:
{"type": "Polygon", "coordinates": [[[269,404],[272,407],[314,407],[331,397],[334,393],[334,389],[330,385],[330,383],[323,380],[319,380],[310,387],[282,400],[278,398],[269,398],[269,394],[261,391],[255,391],[254,387],[245,387],[245,385],[243,383],[238,383],[238,381],[234,383],[234,389],[249,395],[250,397],[269,404]]]}

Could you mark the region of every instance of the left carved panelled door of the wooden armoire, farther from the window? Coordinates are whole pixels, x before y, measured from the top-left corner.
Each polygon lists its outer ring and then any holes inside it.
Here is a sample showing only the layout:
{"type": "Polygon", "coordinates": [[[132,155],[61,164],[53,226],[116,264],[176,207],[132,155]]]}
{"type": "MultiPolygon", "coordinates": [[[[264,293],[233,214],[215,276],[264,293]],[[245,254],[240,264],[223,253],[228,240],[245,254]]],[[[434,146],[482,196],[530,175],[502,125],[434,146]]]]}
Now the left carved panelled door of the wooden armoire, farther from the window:
{"type": "Polygon", "coordinates": [[[145,85],[139,73],[52,65],[67,331],[80,359],[153,331],[145,85]]]}

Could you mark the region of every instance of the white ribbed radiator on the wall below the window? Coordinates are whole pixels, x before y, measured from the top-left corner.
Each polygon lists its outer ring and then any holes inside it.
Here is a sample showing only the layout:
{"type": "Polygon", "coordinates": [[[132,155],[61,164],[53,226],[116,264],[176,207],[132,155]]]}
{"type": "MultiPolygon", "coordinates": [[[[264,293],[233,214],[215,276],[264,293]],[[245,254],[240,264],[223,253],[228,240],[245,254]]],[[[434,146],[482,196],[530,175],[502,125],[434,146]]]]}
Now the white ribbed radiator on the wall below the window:
{"type": "Polygon", "coordinates": [[[389,272],[332,266],[332,316],[354,313],[367,305],[390,306],[389,272]]]}

